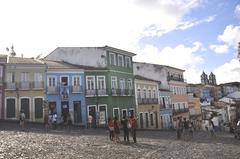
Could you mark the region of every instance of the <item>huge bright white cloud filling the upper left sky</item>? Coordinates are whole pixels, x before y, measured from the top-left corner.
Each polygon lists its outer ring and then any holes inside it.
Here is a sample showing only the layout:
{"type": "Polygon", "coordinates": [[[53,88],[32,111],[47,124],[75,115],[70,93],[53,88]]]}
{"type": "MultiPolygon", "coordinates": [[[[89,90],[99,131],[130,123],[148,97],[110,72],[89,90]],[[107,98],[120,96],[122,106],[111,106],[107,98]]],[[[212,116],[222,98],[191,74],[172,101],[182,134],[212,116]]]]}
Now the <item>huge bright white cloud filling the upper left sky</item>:
{"type": "MultiPolygon", "coordinates": [[[[135,51],[144,30],[174,30],[201,0],[8,0],[0,2],[0,52],[47,54],[57,46],[110,45],[135,51]],[[157,5],[155,5],[157,4],[157,5]]],[[[150,34],[150,33],[149,33],[150,34]]]]}

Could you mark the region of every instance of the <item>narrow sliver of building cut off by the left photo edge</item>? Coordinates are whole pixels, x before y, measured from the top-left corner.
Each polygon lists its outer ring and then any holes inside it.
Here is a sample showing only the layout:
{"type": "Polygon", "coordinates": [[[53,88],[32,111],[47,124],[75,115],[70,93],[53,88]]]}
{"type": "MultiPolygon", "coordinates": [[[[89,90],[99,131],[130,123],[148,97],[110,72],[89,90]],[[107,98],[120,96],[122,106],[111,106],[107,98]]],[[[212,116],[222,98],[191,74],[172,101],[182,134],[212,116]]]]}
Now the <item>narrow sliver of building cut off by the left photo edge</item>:
{"type": "Polygon", "coordinates": [[[0,55],[0,119],[4,119],[4,79],[7,55],[0,55]]]}

